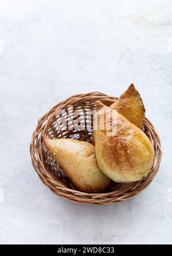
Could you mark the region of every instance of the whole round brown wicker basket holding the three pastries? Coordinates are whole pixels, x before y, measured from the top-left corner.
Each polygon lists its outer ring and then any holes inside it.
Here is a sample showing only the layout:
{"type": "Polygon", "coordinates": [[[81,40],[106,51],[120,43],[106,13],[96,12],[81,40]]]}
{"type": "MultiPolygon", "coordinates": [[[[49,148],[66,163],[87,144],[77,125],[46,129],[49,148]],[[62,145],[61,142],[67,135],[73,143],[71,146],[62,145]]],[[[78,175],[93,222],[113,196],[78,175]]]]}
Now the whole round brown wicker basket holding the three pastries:
{"type": "Polygon", "coordinates": [[[41,181],[58,196],[81,204],[115,204],[128,200],[143,189],[146,189],[158,173],[162,157],[161,142],[158,133],[148,119],[144,119],[143,127],[155,150],[153,168],[146,177],[137,182],[122,184],[111,181],[110,186],[101,193],[80,192],[54,161],[41,138],[44,135],[51,139],[71,138],[92,143],[93,120],[90,111],[95,109],[95,102],[97,100],[110,106],[117,98],[97,92],[78,94],[54,106],[38,120],[30,144],[30,155],[33,167],[41,181]],[[77,114],[80,115],[79,131],[73,129],[78,117],[74,117],[73,120],[71,119],[72,112],[76,110],[77,114]],[[67,121],[68,127],[66,125],[62,126],[62,119],[67,121]],[[82,129],[82,127],[87,127],[87,129],[82,129]]]}

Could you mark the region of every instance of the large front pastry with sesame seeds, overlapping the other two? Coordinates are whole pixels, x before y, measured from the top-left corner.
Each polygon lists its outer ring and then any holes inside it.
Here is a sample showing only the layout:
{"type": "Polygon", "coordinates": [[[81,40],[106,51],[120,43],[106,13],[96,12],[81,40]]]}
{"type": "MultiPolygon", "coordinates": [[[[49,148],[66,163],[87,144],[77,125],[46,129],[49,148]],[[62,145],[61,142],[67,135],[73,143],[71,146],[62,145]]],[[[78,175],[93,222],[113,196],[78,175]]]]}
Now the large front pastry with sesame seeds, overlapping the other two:
{"type": "Polygon", "coordinates": [[[94,137],[99,169],[116,182],[139,181],[153,167],[154,148],[150,140],[122,114],[100,101],[96,102],[96,109],[94,137]],[[102,128],[107,113],[111,113],[111,129],[102,128]]]}

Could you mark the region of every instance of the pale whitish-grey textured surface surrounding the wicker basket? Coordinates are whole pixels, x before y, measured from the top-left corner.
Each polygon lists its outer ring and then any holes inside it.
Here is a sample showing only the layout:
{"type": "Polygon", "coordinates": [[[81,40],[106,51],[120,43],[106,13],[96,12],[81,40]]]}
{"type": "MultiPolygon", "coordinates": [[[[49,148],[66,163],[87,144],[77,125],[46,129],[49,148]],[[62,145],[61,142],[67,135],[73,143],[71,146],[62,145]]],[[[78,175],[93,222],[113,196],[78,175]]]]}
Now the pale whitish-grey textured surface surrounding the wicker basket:
{"type": "Polygon", "coordinates": [[[0,1],[0,242],[172,243],[172,1],[0,1]],[[161,169],[130,201],[77,205],[38,178],[37,120],[72,94],[133,82],[162,140],[161,169]]]}

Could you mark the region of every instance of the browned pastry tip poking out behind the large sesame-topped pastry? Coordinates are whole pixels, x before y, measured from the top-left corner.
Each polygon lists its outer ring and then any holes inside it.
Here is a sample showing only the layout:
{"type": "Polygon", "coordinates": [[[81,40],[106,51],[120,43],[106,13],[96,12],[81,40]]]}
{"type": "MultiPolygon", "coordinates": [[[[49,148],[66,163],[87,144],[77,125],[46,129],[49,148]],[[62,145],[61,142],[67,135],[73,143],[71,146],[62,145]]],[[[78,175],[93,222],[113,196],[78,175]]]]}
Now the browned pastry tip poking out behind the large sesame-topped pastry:
{"type": "Polygon", "coordinates": [[[116,109],[128,121],[142,129],[145,109],[142,98],[132,83],[110,108],[116,109]]]}

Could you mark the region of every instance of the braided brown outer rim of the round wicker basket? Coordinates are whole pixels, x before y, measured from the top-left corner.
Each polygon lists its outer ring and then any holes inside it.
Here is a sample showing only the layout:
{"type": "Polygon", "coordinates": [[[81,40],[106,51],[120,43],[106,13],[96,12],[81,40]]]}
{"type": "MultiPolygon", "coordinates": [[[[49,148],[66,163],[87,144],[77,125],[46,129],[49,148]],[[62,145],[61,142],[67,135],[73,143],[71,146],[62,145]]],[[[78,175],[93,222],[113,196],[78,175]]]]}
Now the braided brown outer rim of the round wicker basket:
{"type": "Polygon", "coordinates": [[[132,182],[128,187],[124,189],[117,189],[112,192],[107,193],[86,193],[81,192],[77,189],[67,188],[66,186],[60,184],[60,182],[54,180],[44,166],[44,159],[42,155],[42,135],[45,135],[47,128],[51,120],[53,119],[56,111],[58,109],[64,109],[69,104],[76,104],[82,102],[95,102],[96,100],[100,100],[103,102],[108,102],[110,105],[112,102],[117,100],[117,97],[112,97],[98,91],[87,93],[87,94],[76,94],[67,98],[65,101],[61,101],[58,104],[54,105],[52,109],[50,109],[47,113],[42,116],[37,123],[36,129],[34,129],[32,140],[30,143],[30,155],[32,159],[32,165],[36,170],[38,176],[41,181],[48,186],[50,190],[56,193],[58,196],[66,198],[73,202],[79,202],[81,204],[115,204],[116,202],[128,200],[129,198],[135,196],[140,193],[142,190],[146,189],[148,185],[150,185],[151,181],[153,181],[155,175],[158,173],[159,165],[162,158],[161,151],[161,141],[159,139],[159,135],[153,124],[145,117],[143,121],[143,125],[147,127],[149,132],[150,140],[154,143],[154,147],[156,148],[155,154],[155,166],[150,171],[150,173],[140,181],[132,182]]]}

